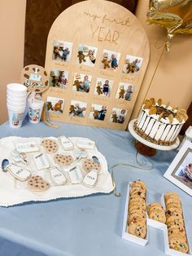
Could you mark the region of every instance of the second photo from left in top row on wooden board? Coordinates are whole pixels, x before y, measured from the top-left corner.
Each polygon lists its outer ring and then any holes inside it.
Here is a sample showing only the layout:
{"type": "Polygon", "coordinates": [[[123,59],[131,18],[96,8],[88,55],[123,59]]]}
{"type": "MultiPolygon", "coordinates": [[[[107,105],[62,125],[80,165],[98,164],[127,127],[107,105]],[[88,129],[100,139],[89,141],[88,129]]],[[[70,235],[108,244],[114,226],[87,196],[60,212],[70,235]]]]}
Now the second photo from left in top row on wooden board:
{"type": "Polygon", "coordinates": [[[96,47],[79,45],[76,63],[93,67],[96,61],[97,51],[98,48],[96,47]]]}

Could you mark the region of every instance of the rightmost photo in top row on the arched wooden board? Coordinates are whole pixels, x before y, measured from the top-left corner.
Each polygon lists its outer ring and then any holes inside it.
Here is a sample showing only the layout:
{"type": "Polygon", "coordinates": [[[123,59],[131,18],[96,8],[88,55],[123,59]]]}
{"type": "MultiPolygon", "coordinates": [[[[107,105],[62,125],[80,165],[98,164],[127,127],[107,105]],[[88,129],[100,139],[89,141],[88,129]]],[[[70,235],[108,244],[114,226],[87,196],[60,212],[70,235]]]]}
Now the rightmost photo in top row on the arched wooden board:
{"type": "Polygon", "coordinates": [[[136,57],[133,55],[126,55],[124,61],[123,73],[137,74],[142,68],[143,58],[136,57]]]}

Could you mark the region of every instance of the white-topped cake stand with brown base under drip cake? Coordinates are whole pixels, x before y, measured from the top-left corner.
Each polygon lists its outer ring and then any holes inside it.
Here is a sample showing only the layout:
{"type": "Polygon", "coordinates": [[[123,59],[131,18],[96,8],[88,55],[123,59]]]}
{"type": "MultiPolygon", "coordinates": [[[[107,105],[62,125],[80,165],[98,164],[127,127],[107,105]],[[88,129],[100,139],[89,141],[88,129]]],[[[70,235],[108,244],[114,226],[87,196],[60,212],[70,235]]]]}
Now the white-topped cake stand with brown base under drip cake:
{"type": "Polygon", "coordinates": [[[146,157],[155,156],[156,149],[169,151],[177,148],[179,146],[179,138],[177,137],[176,143],[172,144],[172,146],[161,146],[155,143],[151,143],[146,139],[143,139],[140,135],[137,135],[136,131],[133,129],[133,124],[137,119],[133,119],[129,122],[129,132],[136,139],[135,148],[137,152],[140,152],[142,155],[146,157]]]}

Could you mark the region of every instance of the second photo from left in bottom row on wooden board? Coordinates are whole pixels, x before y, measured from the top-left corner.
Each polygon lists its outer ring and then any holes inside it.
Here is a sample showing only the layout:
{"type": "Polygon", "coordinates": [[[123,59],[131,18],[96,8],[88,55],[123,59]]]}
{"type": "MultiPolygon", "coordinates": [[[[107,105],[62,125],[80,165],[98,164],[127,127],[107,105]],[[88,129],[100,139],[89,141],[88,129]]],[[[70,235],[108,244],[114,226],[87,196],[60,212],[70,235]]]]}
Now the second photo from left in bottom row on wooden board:
{"type": "Polygon", "coordinates": [[[83,101],[72,100],[69,108],[69,116],[85,117],[87,104],[83,101]]]}

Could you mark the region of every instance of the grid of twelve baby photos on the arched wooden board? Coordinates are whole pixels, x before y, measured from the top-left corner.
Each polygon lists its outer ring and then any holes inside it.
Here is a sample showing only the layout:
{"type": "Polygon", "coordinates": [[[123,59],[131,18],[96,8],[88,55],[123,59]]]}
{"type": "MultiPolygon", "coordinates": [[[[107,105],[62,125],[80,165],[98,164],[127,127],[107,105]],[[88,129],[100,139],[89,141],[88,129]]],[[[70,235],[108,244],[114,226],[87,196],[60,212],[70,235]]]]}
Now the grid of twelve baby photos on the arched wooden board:
{"type": "MultiPolygon", "coordinates": [[[[125,55],[125,59],[122,60],[123,65],[121,61],[119,66],[120,52],[103,49],[99,55],[101,57],[98,58],[98,48],[95,46],[79,44],[76,48],[73,49],[72,42],[54,40],[52,60],[60,63],[59,67],[62,68],[55,67],[54,64],[52,65],[53,68],[50,68],[50,87],[59,88],[63,91],[70,90],[71,94],[73,92],[72,95],[81,95],[81,97],[84,97],[83,95],[94,96],[94,99],[98,100],[95,100],[95,102],[92,100],[91,104],[88,104],[86,100],[84,101],[86,97],[82,98],[83,100],[77,100],[74,97],[74,99],[70,99],[70,104],[67,106],[64,96],[59,98],[51,95],[47,97],[49,113],[61,115],[63,109],[68,108],[69,117],[88,117],[90,120],[124,124],[128,114],[128,105],[126,103],[133,98],[135,85],[129,82],[118,82],[116,84],[113,81],[113,77],[116,77],[115,73],[117,71],[118,73],[129,74],[129,76],[137,76],[142,68],[142,58],[134,55],[125,55]],[[114,73],[114,75],[93,77],[90,72],[86,73],[86,70],[89,70],[86,67],[82,72],[70,73],[68,64],[72,61],[73,54],[76,54],[76,66],[83,65],[93,68],[95,64],[98,64],[99,69],[114,73]],[[64,63],[67,64],[62,65],[64,63]],[[109,108],[107,100],[112,97],[114,105],[111,106],[109,104],[109,108]]],[[[82,69],[80,68],[80,70],[82,69]]]]}

